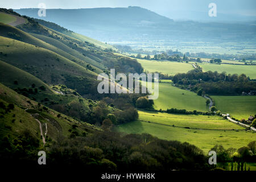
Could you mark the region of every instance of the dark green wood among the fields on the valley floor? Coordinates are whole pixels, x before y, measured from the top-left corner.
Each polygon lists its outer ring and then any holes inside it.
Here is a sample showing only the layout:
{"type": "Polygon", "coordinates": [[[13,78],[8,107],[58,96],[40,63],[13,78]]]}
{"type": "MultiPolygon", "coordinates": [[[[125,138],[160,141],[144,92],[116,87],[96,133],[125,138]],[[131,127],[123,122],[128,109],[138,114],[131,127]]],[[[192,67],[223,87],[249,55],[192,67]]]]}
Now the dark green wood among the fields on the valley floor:
{"type": "Polygon", "coordinates": [[[188,73],[177,73],[172,77],[174,84],[183,85],[192,91],[202,94],[242,94],[256,89],[256,82],[245,74],[226,74],[225,72],[202,72],[193,69],[188,73]]]}

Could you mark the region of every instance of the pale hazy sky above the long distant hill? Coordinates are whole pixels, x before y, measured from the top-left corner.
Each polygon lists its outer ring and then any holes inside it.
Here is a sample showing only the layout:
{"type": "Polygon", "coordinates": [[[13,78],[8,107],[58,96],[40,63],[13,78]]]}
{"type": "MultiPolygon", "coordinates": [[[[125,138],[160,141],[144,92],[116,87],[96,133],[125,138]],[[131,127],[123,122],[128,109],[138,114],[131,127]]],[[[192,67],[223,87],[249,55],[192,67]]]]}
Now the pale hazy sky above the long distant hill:
{"type": "Polygon", "coordinates": [[[212,2],[218,13],[256,16],[255,0],[0,0],[0,7],[20,9],[38,7],[39,3],[45,3],[47,9],[141,6],[168,16],[170,11],[205,12],[212,2]]]}

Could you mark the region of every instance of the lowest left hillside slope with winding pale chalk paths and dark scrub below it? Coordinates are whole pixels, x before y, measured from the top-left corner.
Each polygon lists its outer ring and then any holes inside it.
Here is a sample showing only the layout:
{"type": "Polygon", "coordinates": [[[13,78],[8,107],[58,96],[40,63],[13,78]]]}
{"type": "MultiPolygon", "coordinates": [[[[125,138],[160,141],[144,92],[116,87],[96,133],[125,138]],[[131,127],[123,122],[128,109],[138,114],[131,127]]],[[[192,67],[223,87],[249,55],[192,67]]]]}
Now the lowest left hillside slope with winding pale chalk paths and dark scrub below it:
{"type": "Polygon", "coordinates": [[[72,125],[77,125],[77,131],[79,135],[87,133],[88,131],[95,130],[94,126],[86,123],[80,123],[75,121],[64,114],[57,117],[59,114],[57,111],[51,109],[44,109],[43,105],[38,105],[37,102],[30,100],[27,97],[17,94],[13,90],[0,84],[0,102],[7,107],[9,104],[14,104],[14,109],[5,111],[1,106],[1,138],[6,135],[10,135],[11,138],[15,138],[22,134],[25,130],[29,130],[34,137],[40,140],[39,123],[38,119],[42,123],[43,134],[46,133],[47,125],[47,136],[48,139],[56,139],[59,134],[70,135],[72,131],[72,125]]]}

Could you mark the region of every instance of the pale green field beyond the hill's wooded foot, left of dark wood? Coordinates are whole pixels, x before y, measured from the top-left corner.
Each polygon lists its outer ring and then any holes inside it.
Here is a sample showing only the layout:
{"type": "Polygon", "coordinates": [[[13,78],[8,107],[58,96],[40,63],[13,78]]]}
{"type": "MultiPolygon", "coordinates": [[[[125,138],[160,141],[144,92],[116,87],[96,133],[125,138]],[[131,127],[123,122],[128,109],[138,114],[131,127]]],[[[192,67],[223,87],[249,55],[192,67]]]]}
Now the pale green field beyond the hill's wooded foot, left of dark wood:
{"type": "Polygon", "coordinates": [[[144,70],[148,72],[161,72],[168,75],[175,75],[176,73],[187,73],[193,69],[191,64],[178,63],[174,61],[149,61],[137,59],[141,63],[144,70]]]}

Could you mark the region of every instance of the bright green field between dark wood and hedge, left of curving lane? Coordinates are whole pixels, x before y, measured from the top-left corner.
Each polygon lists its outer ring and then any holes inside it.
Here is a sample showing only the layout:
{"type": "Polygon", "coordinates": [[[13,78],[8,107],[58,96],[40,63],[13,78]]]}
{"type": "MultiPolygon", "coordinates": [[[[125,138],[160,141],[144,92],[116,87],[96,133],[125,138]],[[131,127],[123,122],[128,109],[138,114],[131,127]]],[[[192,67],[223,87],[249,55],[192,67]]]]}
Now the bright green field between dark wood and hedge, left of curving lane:
{"type": "Polygon", "coordinates": [[[154,100],[155,109],[186,109],[188,111],[207,111],[203,97],[196,93],[176,88],[168,83],[159,83],[159,97],[154,100]]]}

